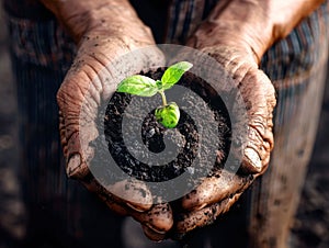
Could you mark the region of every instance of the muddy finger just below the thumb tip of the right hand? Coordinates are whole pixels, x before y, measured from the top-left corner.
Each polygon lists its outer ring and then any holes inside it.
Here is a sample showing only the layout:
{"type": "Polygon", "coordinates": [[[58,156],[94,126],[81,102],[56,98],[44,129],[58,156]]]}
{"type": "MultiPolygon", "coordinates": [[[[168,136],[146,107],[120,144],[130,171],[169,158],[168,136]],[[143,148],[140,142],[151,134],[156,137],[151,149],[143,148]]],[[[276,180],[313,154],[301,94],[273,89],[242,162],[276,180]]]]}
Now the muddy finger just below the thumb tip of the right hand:
{"type": "Polygon", "coordinates": [[[182,198],[182,207],[189,211],[201,210],[245,191],[253,180],[253,176],[238,176],[226,170],[218,170],[182,198]]]}

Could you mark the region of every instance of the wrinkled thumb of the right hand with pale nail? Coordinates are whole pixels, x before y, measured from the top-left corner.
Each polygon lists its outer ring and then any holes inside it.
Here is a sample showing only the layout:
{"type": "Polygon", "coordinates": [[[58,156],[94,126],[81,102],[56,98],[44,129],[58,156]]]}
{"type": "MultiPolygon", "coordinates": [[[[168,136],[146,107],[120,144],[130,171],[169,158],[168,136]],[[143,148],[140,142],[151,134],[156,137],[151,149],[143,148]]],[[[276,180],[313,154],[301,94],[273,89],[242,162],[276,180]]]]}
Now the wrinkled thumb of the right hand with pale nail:
{"type": "Polygon", "coordinates": [[[202,50],[214,57],[230,75],[232,83],[227,83],[226,90],[238,89],[246,103],[249,128],[243,144],[241,171],[263,173],[274,145],[272,112],[276,101],[273,84],[243,50],[226,46],[206,47],[202,50]]]}

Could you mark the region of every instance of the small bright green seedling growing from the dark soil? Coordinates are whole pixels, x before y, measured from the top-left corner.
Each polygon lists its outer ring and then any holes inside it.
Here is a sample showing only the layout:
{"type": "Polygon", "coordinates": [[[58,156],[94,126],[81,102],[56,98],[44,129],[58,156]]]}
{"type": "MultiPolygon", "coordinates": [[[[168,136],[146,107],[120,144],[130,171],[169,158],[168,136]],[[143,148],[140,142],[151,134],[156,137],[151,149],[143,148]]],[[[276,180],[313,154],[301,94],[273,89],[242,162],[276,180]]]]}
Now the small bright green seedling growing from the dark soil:
{"type": "Polygon", "coordinates": [[[159,93],[162,98],[162,105],[156,109],[156,119],[164,127],[173,128],[180,120],[180,109],[175,102],[167,103],[164,91],[173,87],[192,66],[193,65],[188,61],[177,63],[167,68],[161,80],[154,80],[141,75],[131,76],[121,81],[117,87],[117,92],[139,97],[152,97],[159,93]]]}

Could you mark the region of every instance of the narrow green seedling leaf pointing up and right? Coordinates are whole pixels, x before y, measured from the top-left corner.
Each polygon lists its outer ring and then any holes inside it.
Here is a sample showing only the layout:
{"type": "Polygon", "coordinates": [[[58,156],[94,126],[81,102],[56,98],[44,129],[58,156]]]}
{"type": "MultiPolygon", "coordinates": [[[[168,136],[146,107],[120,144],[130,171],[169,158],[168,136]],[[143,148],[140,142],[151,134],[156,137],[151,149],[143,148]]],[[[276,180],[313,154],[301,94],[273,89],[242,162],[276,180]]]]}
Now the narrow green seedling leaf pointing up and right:
{"type": "Polygon", "coordinates": [[[161,81],[162,81],[162,89],[168,90],[174,83],[177,83],[184,72],[192,68],[192,64],[188,61],[180,61],[172,66],[170,66],[163,74],[161,81]]]}

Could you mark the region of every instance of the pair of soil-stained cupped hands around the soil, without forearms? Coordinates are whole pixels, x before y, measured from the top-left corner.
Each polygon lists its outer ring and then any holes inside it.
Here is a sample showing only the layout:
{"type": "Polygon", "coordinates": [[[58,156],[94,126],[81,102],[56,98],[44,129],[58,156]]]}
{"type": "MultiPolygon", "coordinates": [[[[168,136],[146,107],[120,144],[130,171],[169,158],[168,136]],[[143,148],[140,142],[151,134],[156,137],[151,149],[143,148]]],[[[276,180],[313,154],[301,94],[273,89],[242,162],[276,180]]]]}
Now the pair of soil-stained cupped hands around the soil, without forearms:
{"type": "MultiPolygon", "coordinates": [[[[195,35],[186,45],[215,58],[232,79],[232,87],[239,88],[243,101],[248,102],[248,135],[239,170],[242,173],[218,170],[205,178],[195,190],[178,201],[180,213],[174,213],[168,202],[154,204],[152,195],[140,181],[123,181],[113,185],[132,201],[109,192],[93,178],[89,165],[94,156],[90,144],[100,135],[95,121],[99,106],[102,101],[109,101],[120,83],[114,79],[116,71],[113,71],[111,64],[127,53],[155,45],[155,42],[151,32],[136,23],[118,26],[117,32],[91,29],[78,40],[75,63],[57,93],[67,173],[98,194],[112,211],[134,217],[150,239],[182,237],[196,227],[212,223],[227,212],[252,181],[265,171],[273,148],[272,111],[275,97],[271,81],[258,69],[257,58],[249,53],[250,47],[240,45],[243,43],[236,46],[235,41],[207,44],[207,37],[195,35]]],[[[154,49],[136,59],[143,69],[158,65],[163,57],[160,50],[154,49]]]]}

